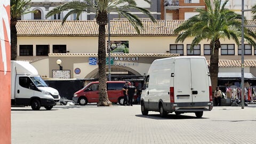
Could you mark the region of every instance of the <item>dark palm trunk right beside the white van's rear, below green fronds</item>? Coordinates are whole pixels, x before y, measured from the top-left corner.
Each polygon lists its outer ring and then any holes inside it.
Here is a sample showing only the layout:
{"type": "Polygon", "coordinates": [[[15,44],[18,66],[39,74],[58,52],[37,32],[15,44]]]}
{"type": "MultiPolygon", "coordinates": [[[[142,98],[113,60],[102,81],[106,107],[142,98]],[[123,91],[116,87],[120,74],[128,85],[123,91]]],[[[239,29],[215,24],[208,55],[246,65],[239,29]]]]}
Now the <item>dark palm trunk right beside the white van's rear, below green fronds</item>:
{"type": "MultiPolygon", "coordinates": [[[[218,86],[218,73],[219,73],[219,48],[220,41],[217,39],[214,43],[210,43],[211,47],[211,59],[210,59],[210,74],[211,74],[211,82],[212,82],[212,90],[216,89],[218,86]],[[213,49],[214,44],[214,49],[213,49]]],[[[213,94],[212,97],[214,98],[213,94]]]]}

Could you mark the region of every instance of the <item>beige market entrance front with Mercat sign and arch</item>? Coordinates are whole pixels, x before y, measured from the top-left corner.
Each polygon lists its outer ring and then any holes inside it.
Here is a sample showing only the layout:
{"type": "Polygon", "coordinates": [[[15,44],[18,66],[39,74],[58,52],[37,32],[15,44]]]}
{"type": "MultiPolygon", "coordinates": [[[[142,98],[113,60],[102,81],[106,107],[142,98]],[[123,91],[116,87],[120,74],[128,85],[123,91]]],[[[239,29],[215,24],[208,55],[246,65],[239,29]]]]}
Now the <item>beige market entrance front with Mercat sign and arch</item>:
{"type": "MultiPolygon", "coordinates": [[[[110,58],[111,79],[141,79],[146,76],[151,63],[155,59],[178,57],[179,54],[157,53],[112,53],[110,58]]],[[[106,75],[108,75],[108,57],[106,57],[106,75]]],[[[49,54],[49,77],[53,78],[98,78],[98,54],[96,53],[53,53],[49,54]],[[61,60],[59,69],[57,60],[61,60]]],[[[32,63],[39,67],[36,62],[32,63]]],[[[46,69],[47,70],[47,69],[46,69]]],[[[43,75],[43,74],[42,74],[43,75]]]]}

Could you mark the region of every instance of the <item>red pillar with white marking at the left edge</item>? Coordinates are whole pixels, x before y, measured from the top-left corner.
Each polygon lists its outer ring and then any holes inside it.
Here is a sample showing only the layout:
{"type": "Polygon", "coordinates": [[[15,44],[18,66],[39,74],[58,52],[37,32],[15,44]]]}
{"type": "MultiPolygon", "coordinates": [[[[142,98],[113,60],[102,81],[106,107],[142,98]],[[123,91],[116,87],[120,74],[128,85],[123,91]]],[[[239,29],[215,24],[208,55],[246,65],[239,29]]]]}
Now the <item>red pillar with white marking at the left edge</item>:
{"type": "Polygon", "coordinates": [[[10,0],[0,1],[0,143],[11,143],[10,0]]]}

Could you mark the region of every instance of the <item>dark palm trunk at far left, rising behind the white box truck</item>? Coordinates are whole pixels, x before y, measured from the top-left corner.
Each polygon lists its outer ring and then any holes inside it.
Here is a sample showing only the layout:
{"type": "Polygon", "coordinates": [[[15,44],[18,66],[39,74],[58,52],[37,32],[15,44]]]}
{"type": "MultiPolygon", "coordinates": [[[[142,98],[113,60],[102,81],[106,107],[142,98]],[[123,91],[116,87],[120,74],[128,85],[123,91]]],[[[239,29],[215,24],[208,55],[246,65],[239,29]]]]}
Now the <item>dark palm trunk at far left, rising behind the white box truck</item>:
{"type": "Polygon", "coordinates": [[[11,20],[11,60],[17,60],[17,21],[11,20]]]}

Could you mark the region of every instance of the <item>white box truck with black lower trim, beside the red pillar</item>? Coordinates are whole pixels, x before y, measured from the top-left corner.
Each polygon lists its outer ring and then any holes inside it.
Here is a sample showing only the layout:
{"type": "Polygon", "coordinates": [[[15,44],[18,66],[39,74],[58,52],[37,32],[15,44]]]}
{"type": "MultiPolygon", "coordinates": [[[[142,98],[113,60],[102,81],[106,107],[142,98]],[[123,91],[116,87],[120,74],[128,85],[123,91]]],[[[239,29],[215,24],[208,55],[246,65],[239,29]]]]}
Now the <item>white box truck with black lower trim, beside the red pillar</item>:
{"type": "Polygon", "coordinates": [[[59,92],[49,87],[27,61],[11,61],[11,84],[12,105],[51,110],[60,100],[59,92]]]}

